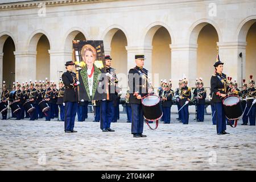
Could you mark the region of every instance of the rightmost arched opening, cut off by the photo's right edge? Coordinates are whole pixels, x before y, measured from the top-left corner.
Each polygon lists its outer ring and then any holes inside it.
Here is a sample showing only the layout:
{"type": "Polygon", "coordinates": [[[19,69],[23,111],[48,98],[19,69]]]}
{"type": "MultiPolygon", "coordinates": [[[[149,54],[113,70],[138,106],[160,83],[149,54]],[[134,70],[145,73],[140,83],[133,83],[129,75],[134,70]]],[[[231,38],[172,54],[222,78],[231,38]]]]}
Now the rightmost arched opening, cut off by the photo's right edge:
{"type": "MultiPolygon", "coordinates": [[[[256,20],[255,20],[256,21],[256,20]]],[[[251,25],[246,36],[246,80],[249,80],[250,75],[256,78],[256,22],[251,25]]]]}

